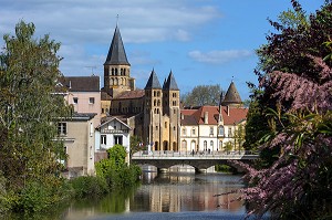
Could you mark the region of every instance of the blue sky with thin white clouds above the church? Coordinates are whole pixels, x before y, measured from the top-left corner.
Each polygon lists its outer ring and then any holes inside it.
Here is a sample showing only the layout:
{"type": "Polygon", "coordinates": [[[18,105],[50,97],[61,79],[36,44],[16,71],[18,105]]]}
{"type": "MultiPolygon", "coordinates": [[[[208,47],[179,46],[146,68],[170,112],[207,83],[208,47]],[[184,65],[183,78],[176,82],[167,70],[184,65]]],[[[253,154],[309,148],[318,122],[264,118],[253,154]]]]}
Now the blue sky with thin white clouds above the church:
{"type": "MultiPolygon", "coordinates": [[[[324,0],[300,0],[314,12],[324,0]]],[[[180,93],[197,85],[234,81],[242,99],[257,84],[255,53],[276,32],[290,0],[0,0],[0,46],[20,21],[35,25],[35,36],[61,42],[60,70],[65,76],[101,76],[118,25],[136,87],[154,70],[160,84],[172,71],[180,93]],[[117,15],[118,14],[118,15],[117,15]]]]}

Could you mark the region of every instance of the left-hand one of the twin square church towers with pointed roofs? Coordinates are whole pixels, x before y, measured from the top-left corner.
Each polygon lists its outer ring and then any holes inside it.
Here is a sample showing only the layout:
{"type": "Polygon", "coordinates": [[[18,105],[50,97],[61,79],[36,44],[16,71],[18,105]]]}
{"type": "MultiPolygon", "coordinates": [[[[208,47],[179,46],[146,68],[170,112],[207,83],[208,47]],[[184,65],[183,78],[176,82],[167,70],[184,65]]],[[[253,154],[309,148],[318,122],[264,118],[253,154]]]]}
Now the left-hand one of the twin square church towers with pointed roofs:
{"type": "Polygon", "coordinates": [[[163,91],[158,77],[153,70],[144,88],[144,139],[153,144],[154,150],[160,150],[163,91]]]}

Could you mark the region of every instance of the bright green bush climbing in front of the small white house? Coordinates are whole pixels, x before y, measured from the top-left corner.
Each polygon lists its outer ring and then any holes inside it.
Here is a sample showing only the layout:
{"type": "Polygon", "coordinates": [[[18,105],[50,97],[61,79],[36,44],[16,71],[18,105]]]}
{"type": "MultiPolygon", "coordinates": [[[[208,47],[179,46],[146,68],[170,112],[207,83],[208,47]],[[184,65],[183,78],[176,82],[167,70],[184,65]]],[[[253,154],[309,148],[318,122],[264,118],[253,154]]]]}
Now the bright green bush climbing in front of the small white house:
{"type": "Polygon", "coordinates": [[[128,166],[125,163],[126,151],[121,145],[107,149],[108,158],[96,163],[96,175],[105,179],[108,187],[133,186],[141,175],[141,168],[136,165],[128,166]]]}

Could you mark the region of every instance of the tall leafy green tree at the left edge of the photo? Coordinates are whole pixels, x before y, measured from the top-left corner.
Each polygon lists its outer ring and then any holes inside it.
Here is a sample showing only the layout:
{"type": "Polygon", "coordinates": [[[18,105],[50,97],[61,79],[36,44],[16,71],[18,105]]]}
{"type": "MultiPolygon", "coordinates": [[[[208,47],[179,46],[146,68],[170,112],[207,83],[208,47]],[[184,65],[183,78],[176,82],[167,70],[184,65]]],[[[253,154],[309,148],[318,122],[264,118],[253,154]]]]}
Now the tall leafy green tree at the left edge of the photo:
{"type": "Polygon", "coordinates": [[[61,75],[60,43],[33,38],[33,23],[20,21],[4,34],[0,53],[0,171],[14,190],[29,182],[55,181],[63,145],[55,142],[56,118],[64,117],[62,96],[53,95],[61,75]]]}

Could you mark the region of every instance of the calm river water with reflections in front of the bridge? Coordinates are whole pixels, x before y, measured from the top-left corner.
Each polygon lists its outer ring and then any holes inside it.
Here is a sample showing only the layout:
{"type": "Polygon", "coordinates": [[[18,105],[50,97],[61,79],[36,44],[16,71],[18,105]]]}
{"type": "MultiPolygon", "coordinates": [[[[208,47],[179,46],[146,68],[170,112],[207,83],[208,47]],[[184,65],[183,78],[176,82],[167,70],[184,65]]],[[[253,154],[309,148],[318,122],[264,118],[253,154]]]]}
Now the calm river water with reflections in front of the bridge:
{"type": "Polygon", "coordinates": [[[240,176],[144,170],[136,189],[116,191],[100,200],[79,201],[62,214],[63,220],[205,220],[243,219],[239,193],[215,195],[240,189],[240,176]]]}

